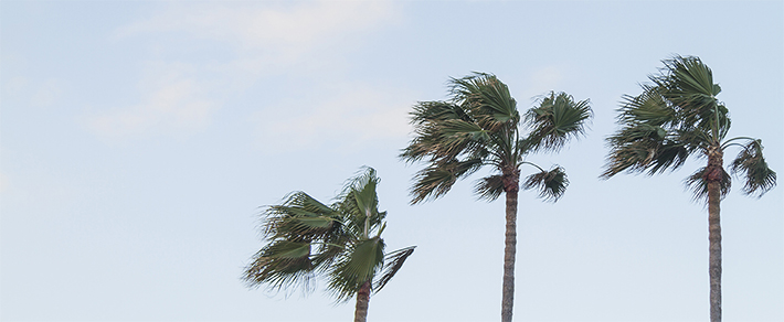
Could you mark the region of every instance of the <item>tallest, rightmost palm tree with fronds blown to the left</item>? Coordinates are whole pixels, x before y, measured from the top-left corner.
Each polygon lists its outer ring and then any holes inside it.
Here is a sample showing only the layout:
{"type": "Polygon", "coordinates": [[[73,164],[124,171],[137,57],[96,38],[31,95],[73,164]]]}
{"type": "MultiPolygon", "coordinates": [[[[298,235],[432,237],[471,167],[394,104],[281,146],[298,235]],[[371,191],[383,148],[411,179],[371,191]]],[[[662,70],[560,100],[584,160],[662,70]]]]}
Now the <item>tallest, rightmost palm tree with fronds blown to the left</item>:
{"type": "Polygon", "coordinates": [[[706,158],[708,164],[686,182],[695,200],[708,203],[710,319],[721,321],[721,226],[719,204],[730,191],[723,154],[740,147],[730,171],[744,180],[743,192],[762,196],[776,184],[776,173],[762,155],[762,140],[725,139],[729,111],[716,96],[721,92],[713,75],[699,57],[675,56],[642,85],[643,94],[624,96],[618,109],[621,130],[607,138],[610,155],[602,178],[621,172],[649,175],[684,165],[689,155],[706,158]]]}

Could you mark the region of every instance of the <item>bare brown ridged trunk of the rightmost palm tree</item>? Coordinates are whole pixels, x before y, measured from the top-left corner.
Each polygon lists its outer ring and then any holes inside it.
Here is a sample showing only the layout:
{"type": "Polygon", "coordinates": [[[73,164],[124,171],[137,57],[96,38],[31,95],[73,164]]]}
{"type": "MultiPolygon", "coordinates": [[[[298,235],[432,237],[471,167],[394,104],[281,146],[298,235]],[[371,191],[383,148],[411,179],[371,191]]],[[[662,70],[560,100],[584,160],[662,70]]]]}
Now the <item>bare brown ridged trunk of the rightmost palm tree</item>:
{"type": "Polygon", "coordinates": [[[721,322],[721,181],[723,153],[720,148],[709,149],[708,171],[708,272],[710,276],[710,321],[721,322]]]}

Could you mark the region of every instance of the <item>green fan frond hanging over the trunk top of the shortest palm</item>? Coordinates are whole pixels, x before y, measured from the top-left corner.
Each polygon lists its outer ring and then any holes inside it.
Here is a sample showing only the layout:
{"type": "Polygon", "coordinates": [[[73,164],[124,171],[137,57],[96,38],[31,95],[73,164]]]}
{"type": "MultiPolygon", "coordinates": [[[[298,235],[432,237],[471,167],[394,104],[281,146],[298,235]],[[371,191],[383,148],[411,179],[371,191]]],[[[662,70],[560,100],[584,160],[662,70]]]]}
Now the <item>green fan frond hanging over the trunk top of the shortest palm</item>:
{"type": "Polygon", "coordinates": [[[383,266],[384,247],[378,237],[359,240],[332,266],[328,289],[338,301],[351,299],[362,283],[372,280],[383,266]]]}

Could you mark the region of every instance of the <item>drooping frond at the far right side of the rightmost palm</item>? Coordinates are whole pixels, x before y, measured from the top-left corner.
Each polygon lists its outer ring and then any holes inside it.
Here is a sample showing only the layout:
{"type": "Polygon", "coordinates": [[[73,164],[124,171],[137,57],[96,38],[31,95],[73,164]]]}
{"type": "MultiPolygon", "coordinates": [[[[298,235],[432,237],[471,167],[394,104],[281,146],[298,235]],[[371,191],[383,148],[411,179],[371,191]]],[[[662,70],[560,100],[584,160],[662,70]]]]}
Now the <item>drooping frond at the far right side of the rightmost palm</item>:
{"type": "Polygon", "coordinates": [[[745,176],[743,193],[749,195],[760,197],[776,185],[776,172],[767,168],[762,155],[762,140],[749,142],[732,161],[730,171],[745,176]]]}

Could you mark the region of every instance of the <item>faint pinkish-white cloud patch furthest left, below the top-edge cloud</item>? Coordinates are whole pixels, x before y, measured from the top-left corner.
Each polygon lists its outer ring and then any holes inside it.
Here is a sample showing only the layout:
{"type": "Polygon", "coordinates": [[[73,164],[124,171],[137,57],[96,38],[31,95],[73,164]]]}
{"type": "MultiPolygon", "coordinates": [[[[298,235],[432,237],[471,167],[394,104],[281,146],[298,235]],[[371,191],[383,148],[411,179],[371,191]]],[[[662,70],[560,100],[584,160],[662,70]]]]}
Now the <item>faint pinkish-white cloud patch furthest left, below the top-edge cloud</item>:
{"type": "Polygon", "coordinates": [[[200,96],[201,86],[184,64],[152,64],[142,77],[140,104],[88,119],[102,136],[125,137],[194,130],[209,122],[215,105],[200,96]]]}

